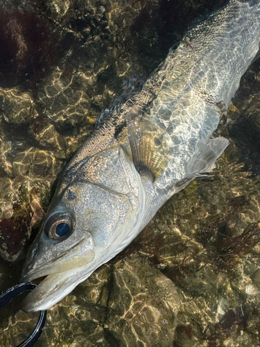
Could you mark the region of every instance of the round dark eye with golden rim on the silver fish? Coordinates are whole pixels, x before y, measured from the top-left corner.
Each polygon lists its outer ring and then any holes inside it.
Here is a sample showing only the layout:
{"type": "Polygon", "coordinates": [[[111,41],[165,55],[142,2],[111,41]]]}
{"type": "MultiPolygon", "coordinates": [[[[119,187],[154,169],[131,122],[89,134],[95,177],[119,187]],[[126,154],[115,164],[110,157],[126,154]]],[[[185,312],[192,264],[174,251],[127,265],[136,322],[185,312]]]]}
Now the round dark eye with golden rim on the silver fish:
{"type": "Polygon", "coordinates": [[[46,234],[52,239],[64,239],[72,230],[72,218],[69,214],[53,214],[46,221],[44,229],[46,234]]]}

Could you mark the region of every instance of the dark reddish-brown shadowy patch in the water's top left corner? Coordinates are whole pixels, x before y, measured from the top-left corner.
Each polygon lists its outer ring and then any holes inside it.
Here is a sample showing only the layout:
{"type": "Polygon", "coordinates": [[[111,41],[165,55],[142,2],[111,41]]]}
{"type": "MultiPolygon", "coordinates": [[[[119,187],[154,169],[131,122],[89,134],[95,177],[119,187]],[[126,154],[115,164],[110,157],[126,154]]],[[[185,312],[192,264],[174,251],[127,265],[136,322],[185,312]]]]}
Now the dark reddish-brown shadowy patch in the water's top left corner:
{"type": "Polygon", "coordinates": [[[51,68],[67,50],[64,35],[53,23],[31,10],[14,6],[0,7],[0,86],[35,92],[51,68]]]}

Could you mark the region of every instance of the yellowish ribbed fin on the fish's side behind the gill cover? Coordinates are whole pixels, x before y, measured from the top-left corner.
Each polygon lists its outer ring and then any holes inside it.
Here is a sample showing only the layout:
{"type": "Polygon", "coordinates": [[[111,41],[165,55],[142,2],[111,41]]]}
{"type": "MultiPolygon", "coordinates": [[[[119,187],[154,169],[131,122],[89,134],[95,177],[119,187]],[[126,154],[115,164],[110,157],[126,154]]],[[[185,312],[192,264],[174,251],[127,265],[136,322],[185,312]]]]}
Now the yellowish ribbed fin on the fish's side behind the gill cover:
{"type": "Polygon", "coordinates": [[[170,159],[171,137],[139,108],[128,112],[128,137],[135,169],[153,181],[162,175],[170,159]]]}

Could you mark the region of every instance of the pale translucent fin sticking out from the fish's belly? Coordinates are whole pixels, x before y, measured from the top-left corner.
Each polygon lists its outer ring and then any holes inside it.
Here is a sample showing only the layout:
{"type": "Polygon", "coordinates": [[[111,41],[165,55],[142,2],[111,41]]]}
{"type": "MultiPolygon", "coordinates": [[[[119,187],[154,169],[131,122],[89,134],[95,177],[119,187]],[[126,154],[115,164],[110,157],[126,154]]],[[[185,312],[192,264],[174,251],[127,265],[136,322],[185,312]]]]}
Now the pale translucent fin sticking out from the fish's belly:
{"type": "Polygon", "coordinates": [[[209,171],[228,144],[229,141],[224,137],[201,141],[198,152],[193,156],[191,162],[187,164],[187,176],[189,174],[201,174],[209,171]]]}

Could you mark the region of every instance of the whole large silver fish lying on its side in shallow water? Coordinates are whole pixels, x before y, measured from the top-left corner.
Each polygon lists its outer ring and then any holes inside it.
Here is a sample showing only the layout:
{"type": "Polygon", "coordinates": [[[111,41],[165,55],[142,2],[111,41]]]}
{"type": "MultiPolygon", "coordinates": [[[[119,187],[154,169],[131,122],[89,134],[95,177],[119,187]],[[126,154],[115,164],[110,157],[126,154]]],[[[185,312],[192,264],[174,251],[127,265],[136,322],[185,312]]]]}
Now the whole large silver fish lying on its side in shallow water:
{"type": "Polygon", "coordinates": [[[141,91],[104,114],[58,178],[22,280],[47,310],[132,242],[229,142],[212,137],[259,55],[260,1],[230,0],[187,31],[141,91]]]}

